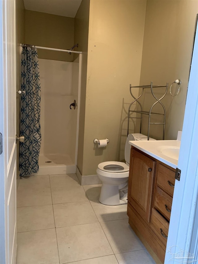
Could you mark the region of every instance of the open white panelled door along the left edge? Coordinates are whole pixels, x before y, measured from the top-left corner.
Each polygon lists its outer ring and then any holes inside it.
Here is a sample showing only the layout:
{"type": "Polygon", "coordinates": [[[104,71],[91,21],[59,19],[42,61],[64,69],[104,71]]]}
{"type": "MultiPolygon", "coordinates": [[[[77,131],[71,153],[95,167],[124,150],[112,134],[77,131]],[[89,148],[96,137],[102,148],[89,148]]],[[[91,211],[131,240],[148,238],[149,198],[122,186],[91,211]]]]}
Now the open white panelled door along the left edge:
{"type": "Polygon", "coordinates": [[[16,261],[15,0],[0,1],[0,263],[16,261]]]}

